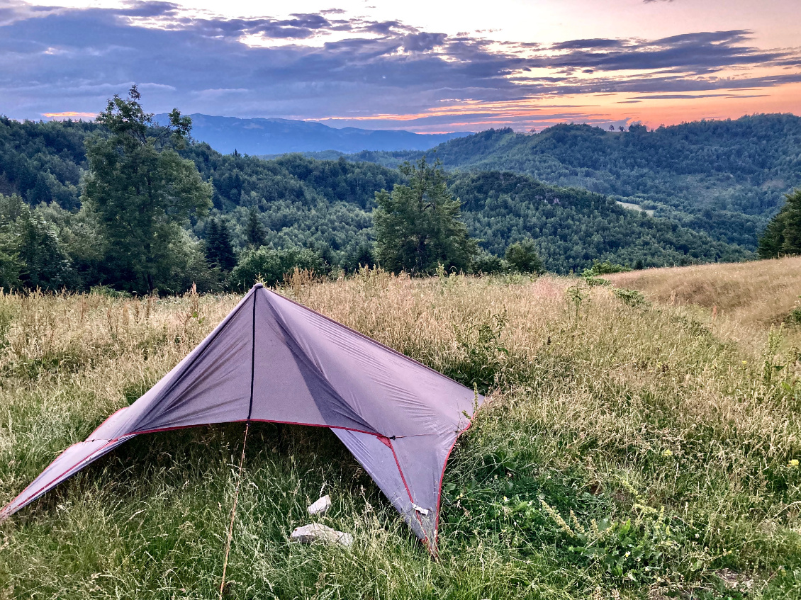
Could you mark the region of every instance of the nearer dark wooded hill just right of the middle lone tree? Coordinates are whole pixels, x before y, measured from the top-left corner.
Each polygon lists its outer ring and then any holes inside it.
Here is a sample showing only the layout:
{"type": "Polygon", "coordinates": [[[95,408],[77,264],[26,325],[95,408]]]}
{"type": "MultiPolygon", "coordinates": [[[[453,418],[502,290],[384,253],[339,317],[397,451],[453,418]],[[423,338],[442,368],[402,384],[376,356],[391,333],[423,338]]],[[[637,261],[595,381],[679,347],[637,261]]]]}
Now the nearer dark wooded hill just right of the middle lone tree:
{"type": "Polygon", "coordinates": [[[473,236],[492,254],[533,236],[548,270],[580,271],[594,260],[663,266],[738,261],[739,246],[679,226],[666,218],[626,210],[602,194],[548,186],[529,175],[486,171],[457,174],[451,192],[473,236]]]}

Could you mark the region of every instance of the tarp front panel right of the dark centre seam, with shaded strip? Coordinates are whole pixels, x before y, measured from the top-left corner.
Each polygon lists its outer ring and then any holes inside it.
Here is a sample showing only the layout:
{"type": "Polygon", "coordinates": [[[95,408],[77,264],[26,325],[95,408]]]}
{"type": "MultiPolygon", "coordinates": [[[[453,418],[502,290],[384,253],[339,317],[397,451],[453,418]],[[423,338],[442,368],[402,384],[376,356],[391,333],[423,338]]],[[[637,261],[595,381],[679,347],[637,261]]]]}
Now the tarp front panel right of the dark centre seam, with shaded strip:
{"type": "Polygon", "coordinates": [[[252,418],[365,430],[276,321],[264,290],[256,303],[252,418]]]}

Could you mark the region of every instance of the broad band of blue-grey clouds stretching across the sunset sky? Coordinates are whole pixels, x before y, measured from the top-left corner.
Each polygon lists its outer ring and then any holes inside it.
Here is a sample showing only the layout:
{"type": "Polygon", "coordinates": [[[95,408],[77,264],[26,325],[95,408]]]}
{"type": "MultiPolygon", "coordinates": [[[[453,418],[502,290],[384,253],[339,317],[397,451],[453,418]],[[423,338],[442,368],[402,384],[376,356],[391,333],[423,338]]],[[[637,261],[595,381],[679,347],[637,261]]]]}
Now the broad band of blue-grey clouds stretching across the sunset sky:
{"type": "Polygon", "coordinates": [[[562,95],[700,98],[801,81],[797,50],[756,47],[747,30],[552,45],[482,35],[348,18],[341,10],[222,18],[173,2],[115,9],[11,3],[0,9],[0,98],[11,116],[96,113],[111,94],[139,82],[148,110],[356,120],[421,114],[420,126],[475,130],[536,115],[432,111],[562,95]]]}

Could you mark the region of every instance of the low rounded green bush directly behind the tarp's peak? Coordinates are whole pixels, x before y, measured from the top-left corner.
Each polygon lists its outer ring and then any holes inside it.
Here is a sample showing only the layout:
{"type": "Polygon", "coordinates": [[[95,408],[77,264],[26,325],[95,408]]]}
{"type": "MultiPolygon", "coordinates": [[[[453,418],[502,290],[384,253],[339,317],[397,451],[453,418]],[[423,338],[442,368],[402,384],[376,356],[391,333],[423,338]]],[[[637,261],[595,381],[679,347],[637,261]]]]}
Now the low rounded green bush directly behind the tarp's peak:
{"type": "Polygon", "coordinates": [[[267,286],[275,286],[284,281],[284,274],[295,269],[323,270],[325,262],[320,254],[308,248],[287,248],[272,250],[261,246],[242,255],[239,264],[231,272],[231,287],[247,290],[260,281],[267,286]]]}

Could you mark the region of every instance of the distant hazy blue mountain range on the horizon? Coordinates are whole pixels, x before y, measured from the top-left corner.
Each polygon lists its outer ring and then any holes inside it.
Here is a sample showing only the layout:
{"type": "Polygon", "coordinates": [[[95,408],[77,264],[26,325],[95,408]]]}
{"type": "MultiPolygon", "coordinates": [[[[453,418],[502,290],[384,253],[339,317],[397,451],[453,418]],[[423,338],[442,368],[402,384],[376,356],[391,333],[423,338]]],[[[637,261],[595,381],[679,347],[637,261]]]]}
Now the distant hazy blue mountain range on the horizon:
{"type": "MultiPolygon", "coordinates": [[[[192,137],[199,142],[230,154],[286,154],[336,150],[350,153],[361,150],[428,150],[449,139],[470,135],[413,134],[411,131],[368,130],[356,127],[335,129],[322,123],[292,121],[285,118],[211,117],[191,114],[192,137]]],[[[167,114],[157,114],[156,121],[166,123],[167,114]]]]}

